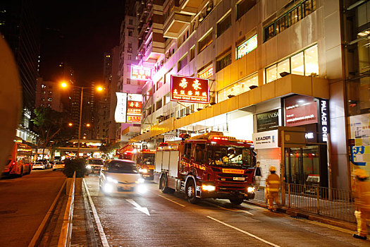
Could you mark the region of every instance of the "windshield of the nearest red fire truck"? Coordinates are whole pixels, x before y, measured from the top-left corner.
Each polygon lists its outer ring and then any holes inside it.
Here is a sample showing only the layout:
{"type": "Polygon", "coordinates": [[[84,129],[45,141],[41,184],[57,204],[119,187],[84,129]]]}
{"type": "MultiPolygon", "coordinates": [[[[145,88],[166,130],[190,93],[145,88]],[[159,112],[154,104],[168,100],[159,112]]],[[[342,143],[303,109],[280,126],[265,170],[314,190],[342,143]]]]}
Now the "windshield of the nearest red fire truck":
{"type": "Polygon", "coordinates": [[[251,167],[252,150],[247,147],[208,145],[208,160],[216,167],[251,167]]]}

